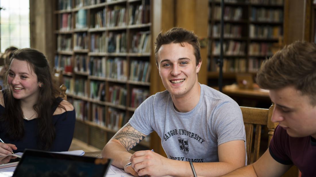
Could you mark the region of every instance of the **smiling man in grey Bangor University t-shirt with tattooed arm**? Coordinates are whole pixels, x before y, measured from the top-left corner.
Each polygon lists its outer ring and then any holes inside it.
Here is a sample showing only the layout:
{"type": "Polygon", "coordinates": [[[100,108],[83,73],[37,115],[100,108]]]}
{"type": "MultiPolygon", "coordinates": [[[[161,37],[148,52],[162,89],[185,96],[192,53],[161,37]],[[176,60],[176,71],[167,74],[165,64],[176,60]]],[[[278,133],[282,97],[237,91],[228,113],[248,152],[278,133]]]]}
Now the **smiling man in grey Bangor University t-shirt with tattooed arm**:
{"type": "Polygon", "coordinates": [[[166,91],[146,99],[130,121],[106,144],[103,157],[135,176],[218,176],[246,162],[245,127],[239,106],[228,96],[198,83],[202,60],[197,36],[183,28],[160,33],[156,64],[166,91]],[[130,154],[156,131],[167,157],[152,151],[130,154]],[[131,166],[126,166],[131,162],[131,166]]]}

